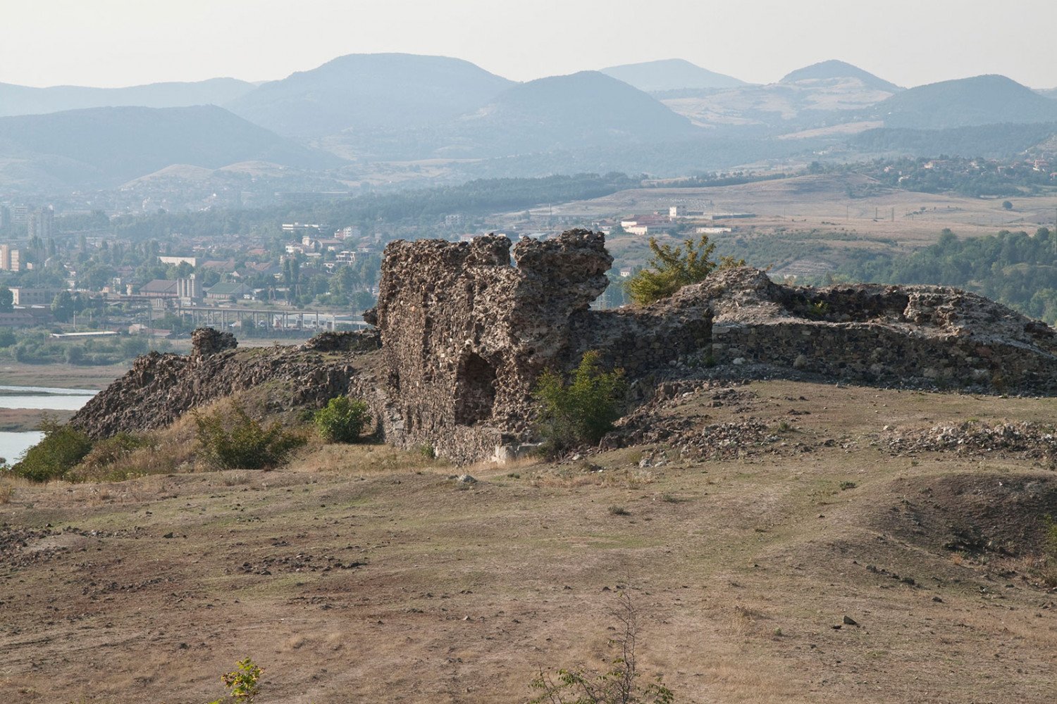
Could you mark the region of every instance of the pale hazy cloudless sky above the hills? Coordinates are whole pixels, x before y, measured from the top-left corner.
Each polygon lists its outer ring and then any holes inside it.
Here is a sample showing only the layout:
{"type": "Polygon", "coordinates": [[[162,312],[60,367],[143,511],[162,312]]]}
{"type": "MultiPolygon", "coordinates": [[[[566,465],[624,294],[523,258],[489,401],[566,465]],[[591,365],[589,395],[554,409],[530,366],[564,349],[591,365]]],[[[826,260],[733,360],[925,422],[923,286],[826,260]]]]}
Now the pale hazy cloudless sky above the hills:
{"type": "Polygon", "coordinates": [[[753,82],[839,58],[902,85],[1057,87],[1057,0],[4,0],[0,82],[282,78],[353,53],[516,80],[685,58],[753,82]]]}

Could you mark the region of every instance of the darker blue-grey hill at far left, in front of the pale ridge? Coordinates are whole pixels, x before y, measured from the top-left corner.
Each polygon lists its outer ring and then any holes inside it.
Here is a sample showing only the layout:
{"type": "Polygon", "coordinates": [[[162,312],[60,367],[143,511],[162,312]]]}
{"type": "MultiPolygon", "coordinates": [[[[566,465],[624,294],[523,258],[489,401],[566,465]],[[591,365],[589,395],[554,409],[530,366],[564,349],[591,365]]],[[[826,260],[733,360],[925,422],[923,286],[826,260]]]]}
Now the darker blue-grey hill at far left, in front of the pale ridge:
{"type": "Polygon", "coordinates": [[[0,118],[0,160],[71,185],[117,184],[173,164],[341,164],[215,106],[91,108],[0,118]]]}

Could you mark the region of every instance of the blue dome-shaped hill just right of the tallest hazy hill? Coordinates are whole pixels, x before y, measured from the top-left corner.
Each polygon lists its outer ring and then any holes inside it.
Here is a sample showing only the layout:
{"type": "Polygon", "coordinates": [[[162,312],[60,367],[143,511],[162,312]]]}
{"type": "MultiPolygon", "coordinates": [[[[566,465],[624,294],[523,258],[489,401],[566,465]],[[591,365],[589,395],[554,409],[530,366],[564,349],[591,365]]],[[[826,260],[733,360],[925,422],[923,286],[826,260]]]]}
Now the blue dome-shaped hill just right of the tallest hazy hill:
{"type": "Polygon", "coordinates": [[[688,119],[597,71],[511,88],[452,126],[448,155],[499,156],[692,137],[688,119]]]}

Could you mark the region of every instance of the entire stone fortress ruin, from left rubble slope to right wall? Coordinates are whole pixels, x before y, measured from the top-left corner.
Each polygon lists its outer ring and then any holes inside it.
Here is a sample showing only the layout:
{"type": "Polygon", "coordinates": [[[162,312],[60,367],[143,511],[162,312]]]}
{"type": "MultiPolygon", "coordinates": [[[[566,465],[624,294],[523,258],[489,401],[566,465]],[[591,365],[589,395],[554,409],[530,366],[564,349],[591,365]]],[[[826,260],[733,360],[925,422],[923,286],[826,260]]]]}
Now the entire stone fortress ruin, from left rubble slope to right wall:
{"type": "Polygon", "coordinates": [[[786,286],[738,267],[650,306],[592,309],[612,261],[604,235],[587,230],[513,247],[496,235],[393,242],[366,316],[376,330],[268,353],[199,334],[188,357],[140,358],[71,422],[94,436],[157,427],[281,379],[293,391],[276,392],[272,410],[349,393],[368,400],[387,441],[469,462],[531,441],[537,378],[574,367],[589,349],[625,369],[637,401],[659,382],[703,377],[1057,392],[1054,330],[980,296],[786,286]]]}

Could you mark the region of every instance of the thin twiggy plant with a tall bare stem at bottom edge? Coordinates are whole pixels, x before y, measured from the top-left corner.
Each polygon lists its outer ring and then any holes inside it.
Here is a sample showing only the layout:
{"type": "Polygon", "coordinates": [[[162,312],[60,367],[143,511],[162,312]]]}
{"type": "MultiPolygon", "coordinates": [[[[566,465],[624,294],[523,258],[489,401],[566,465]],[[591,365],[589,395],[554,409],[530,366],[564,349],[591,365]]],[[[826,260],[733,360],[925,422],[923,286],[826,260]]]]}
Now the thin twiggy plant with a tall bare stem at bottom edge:
{"type": "Polygon", "coordinates": [[[530,683],[540,693],[528,704],[671,704],[675,695],[664,686],[661,676],[642,685],[635,658],[638,638],[638,610],[627,592],[622,592],[619,604],[610,611],[618,622],[620,635],[610,641],[618,653],[598,672],[582,667],[573,669],[539,670],[530,683]]]}

